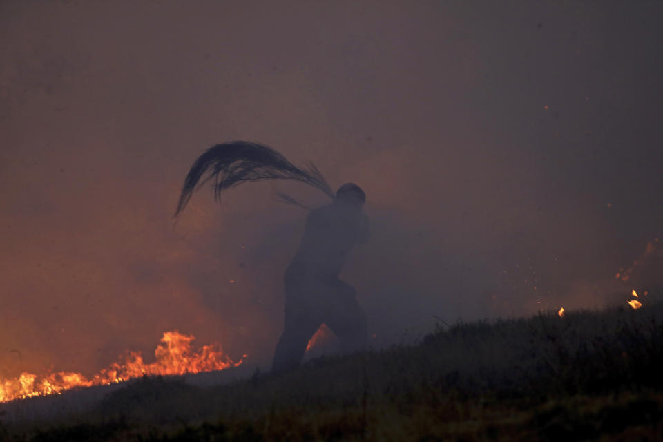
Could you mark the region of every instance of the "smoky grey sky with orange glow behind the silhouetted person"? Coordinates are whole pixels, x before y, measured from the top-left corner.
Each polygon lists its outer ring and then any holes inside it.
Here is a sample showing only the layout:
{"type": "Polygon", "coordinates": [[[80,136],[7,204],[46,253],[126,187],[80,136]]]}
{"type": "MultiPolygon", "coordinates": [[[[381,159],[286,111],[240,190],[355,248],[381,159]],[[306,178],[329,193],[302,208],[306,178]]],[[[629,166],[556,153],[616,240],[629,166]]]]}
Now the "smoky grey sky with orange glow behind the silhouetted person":
{"type": "Polygon", "coordinates": [[[0,376],[169,329],[271,358],[301,184],[193,196],[229,140],[367,194],[376,345],[595,307],[661,235],[660,2],[0,3],[0,376]],[[20,352],[12,352],[17,349],[20,352]]]}

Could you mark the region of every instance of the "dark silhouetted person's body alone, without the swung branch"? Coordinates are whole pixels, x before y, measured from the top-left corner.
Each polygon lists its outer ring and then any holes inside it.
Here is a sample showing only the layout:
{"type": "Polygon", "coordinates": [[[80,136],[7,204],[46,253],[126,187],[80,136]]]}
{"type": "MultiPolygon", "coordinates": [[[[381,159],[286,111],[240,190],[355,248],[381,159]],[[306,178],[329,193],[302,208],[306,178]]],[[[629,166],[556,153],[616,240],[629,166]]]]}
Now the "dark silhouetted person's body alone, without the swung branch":
{"type": "Polygon", "coordinates": [[[343,351],[367,344],[366,316],[356,291],[338,279],[347,254],[368,241],[365,200],[359,186],[343,184],[332,204],[309,213],[299,250],[285,271],[285,318],[273,371],[297,367],[323,323],[340,338],[343,351]]]}

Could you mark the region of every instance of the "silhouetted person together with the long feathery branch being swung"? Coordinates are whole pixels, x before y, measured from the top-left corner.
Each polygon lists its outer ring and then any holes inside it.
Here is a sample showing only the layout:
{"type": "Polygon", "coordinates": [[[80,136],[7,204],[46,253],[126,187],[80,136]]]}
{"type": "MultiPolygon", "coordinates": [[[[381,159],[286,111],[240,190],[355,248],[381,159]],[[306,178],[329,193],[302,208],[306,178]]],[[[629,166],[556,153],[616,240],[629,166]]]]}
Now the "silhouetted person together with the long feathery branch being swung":
{"type": "MultiPolygon", "coordinates": [[[[312,162],[298,167],[265,144],[224,142],[207,149],[193,162],[184,179],[175,218],[200,184],[211,182],[218,200],[234,186],[265,180],[308,184],[333,200],[309,213],[302,243],[285,272],[285,321],[273,370],[299,365],[309,339],[323,323],[340,338],[343,350],[364,347],[366,316],[357,304],[354,289],[338,279],[352,247],[368,240],[368,219],[361,211],[366,195],[359,186],[343,184],[334,194],[312,162]]],[[[284,193],[276,196],[282,202],[307,208],[284,193]]]]}

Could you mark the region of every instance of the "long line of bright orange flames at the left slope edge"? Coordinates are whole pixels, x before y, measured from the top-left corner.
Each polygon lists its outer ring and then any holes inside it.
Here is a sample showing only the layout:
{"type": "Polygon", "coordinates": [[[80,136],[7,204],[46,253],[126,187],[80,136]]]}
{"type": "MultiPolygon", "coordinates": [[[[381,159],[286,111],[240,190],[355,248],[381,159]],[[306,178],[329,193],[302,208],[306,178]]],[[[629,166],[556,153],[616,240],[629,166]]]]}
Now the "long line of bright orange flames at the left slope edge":
{"type": "MultiPolygon", "coordinates": [[[[0,379],[0,402],[32,396],[60,394],[75,387],[91,387],[120,383],[143,375],[177,375],[185,373],[210,372],[236,367],[243,362],[233,362],[220,345],[203,345],[201,349],[193,349],[193,335],[186,335],[173,330],[165,332],[161,344],[154,351],[156,361],[144,363],[140,352],[129,352],[124,363],[113,363],[102,369],[92,378],[75,372],[57,372],[44,376],[32,373],[21,373],[18,378],[0,379]]],[[[243,357],[246,357],[244,355],[243,357]]]]}

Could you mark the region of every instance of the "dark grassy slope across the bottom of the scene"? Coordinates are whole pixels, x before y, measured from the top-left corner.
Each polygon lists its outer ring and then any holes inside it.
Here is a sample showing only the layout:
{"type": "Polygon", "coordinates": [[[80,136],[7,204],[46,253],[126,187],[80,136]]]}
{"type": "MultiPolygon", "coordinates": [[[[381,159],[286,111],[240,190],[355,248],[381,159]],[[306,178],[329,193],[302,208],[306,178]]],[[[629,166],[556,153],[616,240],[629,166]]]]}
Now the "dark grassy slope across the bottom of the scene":
{"type": "Polygon", "coordinates": [[[31,441],[663,440],[663,305],[439,329],[218,387],[144,378],[31,441]]]}

